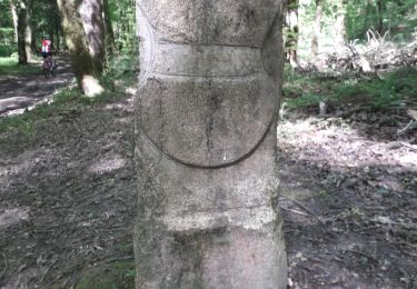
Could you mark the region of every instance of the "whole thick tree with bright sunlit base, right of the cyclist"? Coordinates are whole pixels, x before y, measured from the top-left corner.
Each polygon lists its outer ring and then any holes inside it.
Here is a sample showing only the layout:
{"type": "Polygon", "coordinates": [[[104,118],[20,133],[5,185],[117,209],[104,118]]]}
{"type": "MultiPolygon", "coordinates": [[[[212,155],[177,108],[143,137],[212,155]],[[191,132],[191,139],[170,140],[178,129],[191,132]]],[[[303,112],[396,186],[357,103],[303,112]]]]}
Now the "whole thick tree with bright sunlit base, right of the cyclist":
{"type": "Polygon", "coordinates": [[[100,1],[58,0],[58,7],[78,86],[87,96],[99,94],[103,91],[98,78],[102,70],[100,61],[105,43],[100,1]],[[91,11],[80,11],[82,8],[91,11]]]}

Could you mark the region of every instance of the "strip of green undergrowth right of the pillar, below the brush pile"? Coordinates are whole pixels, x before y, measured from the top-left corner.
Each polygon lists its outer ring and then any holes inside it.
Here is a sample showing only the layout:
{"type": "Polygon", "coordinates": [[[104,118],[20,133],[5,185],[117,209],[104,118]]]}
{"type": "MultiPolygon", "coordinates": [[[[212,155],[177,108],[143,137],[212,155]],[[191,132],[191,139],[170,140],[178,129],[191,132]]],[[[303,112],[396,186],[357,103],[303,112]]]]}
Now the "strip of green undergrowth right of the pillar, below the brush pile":
{"type": "Polygon", "coordinates": [[[401,68],[383,76],[325,77],[286,71],[284,102],[291,109],[361,106],[391,110],[417,104],[417,69],[401,68]]]}

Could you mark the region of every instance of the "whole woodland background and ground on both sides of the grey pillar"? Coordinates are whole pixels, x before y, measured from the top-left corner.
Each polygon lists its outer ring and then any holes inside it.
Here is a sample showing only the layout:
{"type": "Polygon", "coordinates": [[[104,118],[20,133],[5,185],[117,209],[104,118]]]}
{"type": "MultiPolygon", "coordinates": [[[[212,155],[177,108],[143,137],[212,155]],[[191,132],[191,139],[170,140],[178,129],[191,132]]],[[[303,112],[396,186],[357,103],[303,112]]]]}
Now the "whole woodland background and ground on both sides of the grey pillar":
{"type": "MultiPolygon", "coordinates": [[[[42,100],[0,111],[0,286],[133,286],[135,10],[0,0],[0,103],[42,100]],[[46,34],[54,79],[40,71],[46,34]]],[[[288,0],[282,29],[290,283],[416,288],[416,0],[288,0]]]]}

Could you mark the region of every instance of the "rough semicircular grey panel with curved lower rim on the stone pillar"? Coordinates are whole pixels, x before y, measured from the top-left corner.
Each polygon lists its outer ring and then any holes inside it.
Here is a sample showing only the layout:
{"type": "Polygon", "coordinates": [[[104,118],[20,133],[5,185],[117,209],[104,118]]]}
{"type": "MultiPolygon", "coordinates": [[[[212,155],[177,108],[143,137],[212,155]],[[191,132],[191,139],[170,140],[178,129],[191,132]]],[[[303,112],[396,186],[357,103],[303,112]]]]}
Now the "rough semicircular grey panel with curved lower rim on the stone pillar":
{"type": "Polygon", "coordinates": [[[244,79],[152,76],[140,91],[140,128],[182,163],[235,162],[264,139],[277,107],[271,79],[244,79]]]}

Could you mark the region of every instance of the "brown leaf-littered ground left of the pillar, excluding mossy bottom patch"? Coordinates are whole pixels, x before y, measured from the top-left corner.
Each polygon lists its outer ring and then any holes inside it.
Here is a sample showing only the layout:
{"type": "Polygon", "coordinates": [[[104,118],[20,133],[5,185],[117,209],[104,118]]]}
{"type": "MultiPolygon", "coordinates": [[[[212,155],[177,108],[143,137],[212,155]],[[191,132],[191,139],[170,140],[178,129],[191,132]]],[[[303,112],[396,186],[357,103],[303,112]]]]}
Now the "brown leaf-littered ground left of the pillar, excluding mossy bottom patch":
{"type": "Polygon", "coordinates": [[[131,261],[131,108],[69,107],[0,137],[0,288],[70,288],[89,266],[131,261]]]}

